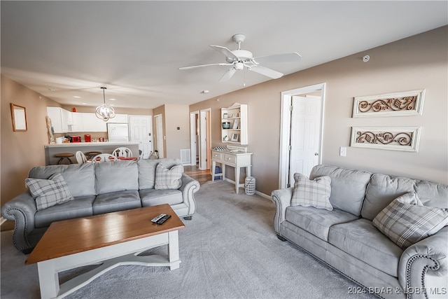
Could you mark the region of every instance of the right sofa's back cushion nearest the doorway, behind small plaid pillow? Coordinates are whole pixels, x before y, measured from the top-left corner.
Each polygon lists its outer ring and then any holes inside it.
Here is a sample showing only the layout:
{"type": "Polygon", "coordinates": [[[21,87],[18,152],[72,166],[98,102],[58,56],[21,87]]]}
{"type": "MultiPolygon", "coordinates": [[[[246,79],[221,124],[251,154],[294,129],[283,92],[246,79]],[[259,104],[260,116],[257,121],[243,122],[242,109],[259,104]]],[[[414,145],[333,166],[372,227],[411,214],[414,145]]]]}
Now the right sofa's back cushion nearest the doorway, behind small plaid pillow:
{"type": "Polygon", "coordinates": [[[316,165],[309,174],[309,179],[318,176],[330,176],[330,203],[333,208],[342,209],[360,216],[365,188],[370,180],[370,172],[344,169],[330,165],[316,165]]]}

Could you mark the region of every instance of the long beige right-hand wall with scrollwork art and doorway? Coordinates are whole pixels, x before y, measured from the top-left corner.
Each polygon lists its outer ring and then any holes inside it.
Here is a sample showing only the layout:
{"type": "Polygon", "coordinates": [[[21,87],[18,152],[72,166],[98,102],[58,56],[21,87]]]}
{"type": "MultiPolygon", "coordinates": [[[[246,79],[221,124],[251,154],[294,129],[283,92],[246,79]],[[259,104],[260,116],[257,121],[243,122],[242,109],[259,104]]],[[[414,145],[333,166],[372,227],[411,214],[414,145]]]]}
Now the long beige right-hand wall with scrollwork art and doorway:
{"type": "Polygon", "coordinates": [[[281,92],[326,83],[324,164],[447,184],[447,36],[448,27],[434,29],[207,99],[190,105],[190,111],[211,108],[212,147],[225,146],[221,141],[220,109],[235,102],[248,104],[248,151],[253,152],[252,175],[256,179],[256,189],[270,195],[279,183],[281,92]],[[364,55],[370,55],[369,62],[363,62],[364,55]],[[353,97],[421,89],[426,90],[421,116],[351,118],[353,97]],[[350,147],[351,127],[358,126],[421,126],[419,152],[350,147]],[[347,147],[346,157],[339,156],[340,146],[347,147]]]}

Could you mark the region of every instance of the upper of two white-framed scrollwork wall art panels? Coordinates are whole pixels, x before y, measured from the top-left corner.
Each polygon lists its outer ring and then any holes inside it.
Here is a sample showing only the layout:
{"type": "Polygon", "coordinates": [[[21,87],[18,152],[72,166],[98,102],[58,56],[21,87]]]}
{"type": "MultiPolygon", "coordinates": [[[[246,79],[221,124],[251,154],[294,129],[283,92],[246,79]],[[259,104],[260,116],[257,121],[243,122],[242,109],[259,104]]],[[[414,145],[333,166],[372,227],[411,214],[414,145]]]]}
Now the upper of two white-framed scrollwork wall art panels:
{"type": "Polygon", "coordinates": [[[412,90],[387,95],[355,97],[353,100],[353,118],[421,115],[424,96],[425,90],[412,90]]]}

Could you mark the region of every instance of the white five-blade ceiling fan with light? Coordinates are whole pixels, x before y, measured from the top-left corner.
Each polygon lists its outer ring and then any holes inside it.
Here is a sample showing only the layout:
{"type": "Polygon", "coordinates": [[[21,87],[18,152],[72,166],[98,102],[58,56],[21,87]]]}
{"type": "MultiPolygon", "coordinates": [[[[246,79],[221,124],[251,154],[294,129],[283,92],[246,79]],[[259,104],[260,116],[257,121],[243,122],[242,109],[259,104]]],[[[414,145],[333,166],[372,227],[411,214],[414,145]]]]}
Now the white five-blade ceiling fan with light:
{"type": "Polygon", "coordinates": [[[260,64],[269,62],[296,62],[299,61],[301,56],[298,53],[285,53],[277,55],[268,55],[253,57],[252,53],[248,50],[241,50],[241,43],[246,39],[244,34],[235,34],[232,36],[235,43],[238,44],[237,50],[229,50],[223,46],[213,46],[211,48],[217,50],[218,52],[225,55],[225,63],[212,63],[212,64],[201,64],[195,65],[193,67],[180,67],[179,69],[194,69],[197,67],[210,67],[213,65],[219,66],[231,66],[228,71],[221,77],[219,82],[228,81],[232,76],[241,69],[248,69],[249,71],[255,71],[255,73],[268,76],[269,78],[277,79],[283,76],[279,71],[274,71],[273,69],[268,69],[267,67],[262,67],[260,64]]]}

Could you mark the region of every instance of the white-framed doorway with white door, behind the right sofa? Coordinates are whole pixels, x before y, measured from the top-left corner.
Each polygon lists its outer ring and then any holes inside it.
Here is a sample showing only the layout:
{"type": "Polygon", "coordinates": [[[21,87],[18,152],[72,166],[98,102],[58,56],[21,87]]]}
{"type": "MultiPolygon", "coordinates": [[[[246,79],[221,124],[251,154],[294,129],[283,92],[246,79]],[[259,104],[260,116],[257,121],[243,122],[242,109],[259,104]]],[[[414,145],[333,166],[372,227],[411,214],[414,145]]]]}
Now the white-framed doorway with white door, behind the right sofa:
{"type": "Polygon", "coordinates": [[[281,92],[279,188],[321,164],[325,83],[281,92]]]}

